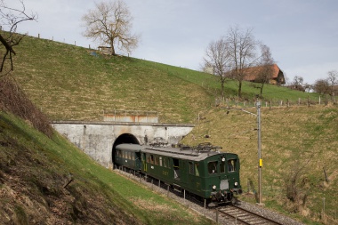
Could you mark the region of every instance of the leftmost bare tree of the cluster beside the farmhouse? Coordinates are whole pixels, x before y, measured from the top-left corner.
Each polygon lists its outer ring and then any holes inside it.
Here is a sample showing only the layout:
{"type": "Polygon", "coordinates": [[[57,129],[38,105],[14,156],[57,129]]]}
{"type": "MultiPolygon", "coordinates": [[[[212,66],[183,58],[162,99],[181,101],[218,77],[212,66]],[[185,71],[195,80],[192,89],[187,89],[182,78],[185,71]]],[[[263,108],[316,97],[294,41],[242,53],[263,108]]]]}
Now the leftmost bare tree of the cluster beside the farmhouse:
{"type": "Polygon", "coordinates": [[[229,78],[229,46],[224,38],[211,42],[205,51],[205,69],[212,70],[221,83],[221,97],[224,97],[224,84],[229,78]]]}

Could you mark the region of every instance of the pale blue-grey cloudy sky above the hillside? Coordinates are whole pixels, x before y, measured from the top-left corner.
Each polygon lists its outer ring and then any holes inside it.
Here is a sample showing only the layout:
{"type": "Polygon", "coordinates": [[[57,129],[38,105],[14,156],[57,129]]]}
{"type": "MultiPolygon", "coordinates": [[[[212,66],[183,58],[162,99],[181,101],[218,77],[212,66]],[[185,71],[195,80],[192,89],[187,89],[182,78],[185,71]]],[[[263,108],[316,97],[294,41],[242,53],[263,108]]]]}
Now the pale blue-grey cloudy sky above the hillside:
{"type": "MultiPolygon", "coordinates": [[[[9,5],[19,0],[5,0],[9,5]]],[[[100,1],[97,1],[100,2],[100,1]]],[[[92,0],[24,0],[38,21],[20,23],[29,36],[88,47],[99,44],[82,36],[81,17],[92,0]]],[[[131,56],[198,70],[207,45],[229,27],[253,28],[270,47],[290,81],[302,76],[313,84],[338,70],[337,0],[125,0],[133,33],[141,35],[131,56]]],[[[120,52],[123,53],[123,52],[120,52]]]]}

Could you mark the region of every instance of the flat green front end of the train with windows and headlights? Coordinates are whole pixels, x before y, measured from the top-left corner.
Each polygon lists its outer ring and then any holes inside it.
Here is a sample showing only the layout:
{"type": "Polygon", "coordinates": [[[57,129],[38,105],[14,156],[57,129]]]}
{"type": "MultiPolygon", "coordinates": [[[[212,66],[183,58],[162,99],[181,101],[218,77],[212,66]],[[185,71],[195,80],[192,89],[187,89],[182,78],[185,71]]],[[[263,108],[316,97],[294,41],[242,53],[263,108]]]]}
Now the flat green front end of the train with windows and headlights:
{"type": "Polygon", "coordinates": [[[239,181],[239,158],[236,154],[220,153],[213,157],[208,157],[206,165],[207,179],[206,187],[210,191],[210,200],[208,206],[217,206],[220,204],[237,203],[237,197],[234,195],[242,194],[239,181]]]}

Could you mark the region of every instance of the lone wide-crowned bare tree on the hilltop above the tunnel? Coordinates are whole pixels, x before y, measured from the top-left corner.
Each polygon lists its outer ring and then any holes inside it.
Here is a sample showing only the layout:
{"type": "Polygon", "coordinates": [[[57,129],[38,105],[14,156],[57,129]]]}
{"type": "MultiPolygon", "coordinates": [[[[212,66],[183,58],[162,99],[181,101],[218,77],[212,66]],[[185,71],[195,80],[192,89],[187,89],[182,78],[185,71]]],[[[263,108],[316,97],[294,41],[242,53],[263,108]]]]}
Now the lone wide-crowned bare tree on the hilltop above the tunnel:
{"type": "Polygon", "coordinates": [[[89,10],[82,17],[85,27],[83,35],[101,44],[109,44],[111,55],[116,55],[116,45],[121,50],[132,52],[140,37],[131,33],[133,18],[127,5],[117,0],[95,6],[94,10],[89,10]]]}

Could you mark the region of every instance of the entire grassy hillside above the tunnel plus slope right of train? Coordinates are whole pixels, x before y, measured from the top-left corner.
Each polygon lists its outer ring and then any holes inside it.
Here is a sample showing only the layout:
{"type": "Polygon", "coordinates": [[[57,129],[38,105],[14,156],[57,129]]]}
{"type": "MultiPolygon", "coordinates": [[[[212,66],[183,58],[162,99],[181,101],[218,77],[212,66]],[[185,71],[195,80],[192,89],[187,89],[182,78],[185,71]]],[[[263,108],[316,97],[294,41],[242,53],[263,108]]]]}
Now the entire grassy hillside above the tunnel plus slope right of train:
{"type": "MultiPolygon", "coordinates": [[[[101,120],[104,109],[135,109],[158,111],[160,122],[195,123],[197,127],[183,142],[211,141],[236,152],[242,160],[244,189],[257,189],[256,118],[236,109],[227,114],[224,108],[214,107],[220,88],[216,77],[147,60],[103,56],[29,36],[16,46],[16,52],[14,76],[50,118],[101,120]]],[[[229,81],[225,91],[229,101],[224,103],[236,107],[237,83],[229,81]]],[[[254,100],[257,93],[254,84],[244,84],[245,100],[254,100]]],[[[318,95],[266,85],[263,98],[295,102],[318,100],[318,95]]],[[[255,108],[247,109],[255,113],[255,108]]],[[[262,108],[265,205],[310,223],[319,221],[325,197],[326,213],[334,218],[337,114],[336,107],[323,104],[262,108]]],[[[254,202],[254,197],[244,197],[254,202]]]]}

